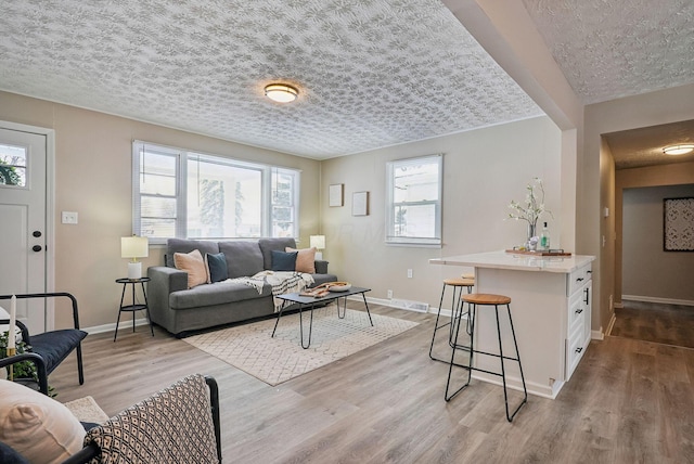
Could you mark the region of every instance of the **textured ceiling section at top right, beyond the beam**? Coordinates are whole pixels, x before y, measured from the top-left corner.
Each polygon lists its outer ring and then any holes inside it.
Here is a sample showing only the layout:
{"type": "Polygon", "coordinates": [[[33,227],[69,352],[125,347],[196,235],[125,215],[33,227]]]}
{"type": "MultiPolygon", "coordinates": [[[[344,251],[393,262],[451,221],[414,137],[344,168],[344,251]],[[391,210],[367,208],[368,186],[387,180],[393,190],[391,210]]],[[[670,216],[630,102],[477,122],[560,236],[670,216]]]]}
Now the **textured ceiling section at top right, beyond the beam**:
{"type": "Polygon", "coordinates": [[[523,0],[584,104],[694,82],[693,0],[523,0]]]}

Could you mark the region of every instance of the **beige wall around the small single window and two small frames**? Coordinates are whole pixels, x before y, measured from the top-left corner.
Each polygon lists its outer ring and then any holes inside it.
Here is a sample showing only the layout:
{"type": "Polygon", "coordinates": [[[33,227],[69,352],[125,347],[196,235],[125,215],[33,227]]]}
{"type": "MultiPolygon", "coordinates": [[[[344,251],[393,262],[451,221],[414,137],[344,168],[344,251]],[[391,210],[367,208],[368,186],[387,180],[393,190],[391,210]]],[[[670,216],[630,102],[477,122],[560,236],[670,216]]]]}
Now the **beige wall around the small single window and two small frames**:
{"type": "MultiPolygon", "coordinates": [[[[323,162],[321,203],[324,257],[342,280],[373,291],[370,296],[424,301],[438,307],[441,280],[460,275],[455,267],[432,266],[430,258],[504,249],[525,240],[526,225],[506,221],[511,199],[524,201],[535,177],[544,181],[547,205],[560,231],[561,131],[539,117],[471,132],[391,146],[323,162]],[[391,159],[444,153],[444,247],[385,245],[385,164],[391,159]],[[345,184],[345,206],[329,207],[330,184],[345,184]],[[370,192],[370,215],[351,216],[354,192],[370,192]],[[413,278],[407,278],[407,270],[413,278]]],[[[573,215],[574,211],[569,211],[573,215]]],[[[561,246],[553,233],[553,245],[561,246]]],[[[448,307],[450,301],[448,302],[448,307]]]]}

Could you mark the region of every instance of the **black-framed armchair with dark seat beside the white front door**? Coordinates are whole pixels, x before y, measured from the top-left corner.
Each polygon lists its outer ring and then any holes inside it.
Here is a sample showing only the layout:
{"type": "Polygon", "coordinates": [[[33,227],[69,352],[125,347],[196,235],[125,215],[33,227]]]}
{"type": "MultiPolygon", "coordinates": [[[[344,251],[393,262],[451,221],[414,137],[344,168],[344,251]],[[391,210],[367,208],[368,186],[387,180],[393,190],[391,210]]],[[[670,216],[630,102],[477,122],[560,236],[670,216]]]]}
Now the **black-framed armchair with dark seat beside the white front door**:
{"type": "MultiPolygon", "coordinates": [[[[87,336],[87,332],[79,330],[79,311],[77,309],[77,299],[68,293],[36,293],[16,295],[17,299],[27,298],[59,298],[66,297],[72,300],[73,304],[73,323],[75,328],[62,328],[57,331],[46,332],[37,335],[29,335],[29,330],[21,321],[17,321],[17,326],[22,330],[22,339],[29,345],[30,353],[38,355],[39,359],[33,358],[37,368],[43,369],[46,375],[50,375],[51,372],[60,365],[61,362],[67,358],[67,356],[77,350],[77,373],[79,375],[79,385],[85,383],[85,372],[82,366],[82,346],[81,341],[87,336]],[[42,365],[42,368],[40,368],[42,365]]],[[[10,299],[12,295],[0,295],[0,300],[10,299]]],[[[10,321],[7,319],[0,320],[0,324],[7,324],[10,321]]],[[[40,375],[39,375],[40,378],[40,375]]]]}

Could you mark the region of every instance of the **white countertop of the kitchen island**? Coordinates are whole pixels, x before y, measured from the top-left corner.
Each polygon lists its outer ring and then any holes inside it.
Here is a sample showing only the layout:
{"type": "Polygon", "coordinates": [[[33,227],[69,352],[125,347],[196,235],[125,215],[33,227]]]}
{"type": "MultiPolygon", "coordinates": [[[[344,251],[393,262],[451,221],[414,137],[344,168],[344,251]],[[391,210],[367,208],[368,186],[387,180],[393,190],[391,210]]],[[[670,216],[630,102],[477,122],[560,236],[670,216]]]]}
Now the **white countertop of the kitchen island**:
{"type": "Polygon", "coordinates": [[[511,269],[516,271],[557,272],[568,274],[593,261],[594,256],[532,256],[504,250],[475,253],[429,259],[430,265],[470,266],[474,268],[511,269]]]}

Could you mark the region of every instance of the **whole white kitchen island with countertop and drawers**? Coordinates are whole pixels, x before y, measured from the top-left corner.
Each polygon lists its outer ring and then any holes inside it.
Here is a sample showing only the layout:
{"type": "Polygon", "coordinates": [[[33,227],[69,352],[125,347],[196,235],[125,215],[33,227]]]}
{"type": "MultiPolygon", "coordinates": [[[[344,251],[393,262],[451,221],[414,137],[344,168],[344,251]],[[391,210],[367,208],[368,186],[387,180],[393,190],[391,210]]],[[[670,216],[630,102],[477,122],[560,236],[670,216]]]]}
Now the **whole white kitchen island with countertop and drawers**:
{"type": "MultiPolygon", "coordinates": [[[[528,392],[556,398],[591,337],[591,262],[594,256],[535,256],[506,252],[430,259],[432,265],[475,268],[475,292],[511,297],[511,314],[528,392]]],[[[499,352],[493,308],[477,308],[475,349],[499,352]]],[[[506,311],[500,308],[504,355],[513,353],[506,311]]],[[[506,362],[506,383],[522,389],[516,363],[506,362]]],[[[475,355],[474,366],[500,372],[499,359],[475,355]]],[[[473,378],[501,385],[497,376],[473,378]]]]}

